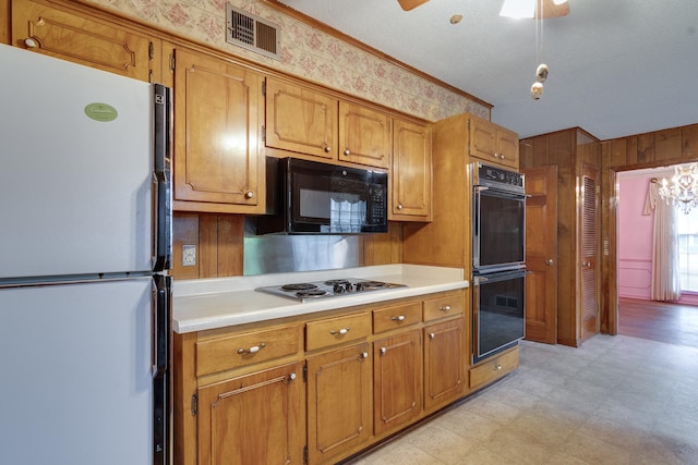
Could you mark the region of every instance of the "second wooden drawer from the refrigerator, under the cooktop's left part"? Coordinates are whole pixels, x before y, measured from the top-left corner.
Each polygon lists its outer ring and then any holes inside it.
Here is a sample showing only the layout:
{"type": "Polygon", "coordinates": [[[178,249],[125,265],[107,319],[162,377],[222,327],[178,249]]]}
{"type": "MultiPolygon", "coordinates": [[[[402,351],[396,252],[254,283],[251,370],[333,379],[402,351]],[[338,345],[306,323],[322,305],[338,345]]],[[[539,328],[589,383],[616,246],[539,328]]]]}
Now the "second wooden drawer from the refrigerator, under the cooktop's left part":
{"type": "Polygon", "coordinates": [[[305,350],[314,351],[368,338],[369,334],[371,334],[371,316],[368,313],[311,321],[305,325],[305,350]]]}

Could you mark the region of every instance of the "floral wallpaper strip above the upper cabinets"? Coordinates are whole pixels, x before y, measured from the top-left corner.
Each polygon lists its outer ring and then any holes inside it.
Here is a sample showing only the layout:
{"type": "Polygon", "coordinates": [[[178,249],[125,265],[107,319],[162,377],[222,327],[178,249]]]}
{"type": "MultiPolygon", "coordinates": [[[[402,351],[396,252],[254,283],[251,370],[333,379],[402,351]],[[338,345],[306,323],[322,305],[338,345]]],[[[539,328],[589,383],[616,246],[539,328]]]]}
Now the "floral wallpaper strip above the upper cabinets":
{"type": "Polygon", "coordinates": [[[88,0],[269,68],[429,121],[490,109],[255,0],[230,0],[279,26],[281,59],[226,42],[226,0],[88,0]]]}

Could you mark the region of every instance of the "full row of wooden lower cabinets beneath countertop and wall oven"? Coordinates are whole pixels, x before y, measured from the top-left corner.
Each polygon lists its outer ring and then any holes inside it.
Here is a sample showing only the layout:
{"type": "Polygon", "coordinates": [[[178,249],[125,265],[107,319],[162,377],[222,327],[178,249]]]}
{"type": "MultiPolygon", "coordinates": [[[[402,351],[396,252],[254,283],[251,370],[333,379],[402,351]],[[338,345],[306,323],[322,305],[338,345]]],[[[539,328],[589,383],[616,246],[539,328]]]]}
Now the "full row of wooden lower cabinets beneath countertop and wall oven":
{"type": "Polygon", "coordinates": [[[465,297],[174,334],[174,465],[335,464],[504,377],[518,347],[469,365],[465,297]]]}

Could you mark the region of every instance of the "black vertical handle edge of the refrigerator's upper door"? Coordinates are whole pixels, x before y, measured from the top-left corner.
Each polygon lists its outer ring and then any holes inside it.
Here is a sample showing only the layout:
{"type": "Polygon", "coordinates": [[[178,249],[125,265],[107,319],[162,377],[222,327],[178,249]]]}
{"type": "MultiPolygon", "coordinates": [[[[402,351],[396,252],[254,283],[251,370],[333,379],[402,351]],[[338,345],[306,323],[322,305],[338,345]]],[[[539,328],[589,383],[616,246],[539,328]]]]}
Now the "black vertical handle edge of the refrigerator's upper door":
{"type": "Polygon", "coordinates": [[[172,98],[171,89],[161,84],[153,84],[154,124],[155,124],[155,160],[154,174],[156,203],[156,258],[155,271],[171,268],[172,262],[172,171],[171,171],[171,134],[172,134],[172,98]]]}

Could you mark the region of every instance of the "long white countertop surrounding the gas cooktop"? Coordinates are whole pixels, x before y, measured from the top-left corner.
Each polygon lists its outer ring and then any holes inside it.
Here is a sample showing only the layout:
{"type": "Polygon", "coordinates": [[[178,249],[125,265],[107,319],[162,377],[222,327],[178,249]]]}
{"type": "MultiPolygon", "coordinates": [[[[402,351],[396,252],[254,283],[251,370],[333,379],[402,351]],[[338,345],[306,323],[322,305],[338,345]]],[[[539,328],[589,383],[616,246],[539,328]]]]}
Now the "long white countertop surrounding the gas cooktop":
{"type": "Polygon", "coordinates": [[[338,270],[258,274],[234,278],[174,280],[172,329],[178,333],[292,317],[361,304],[462,289],[462,268],[381,265],[338,270]],[[299,302],[254,291],[289,282],[360,278],[405,284],[386,291],[299,302]]]}

